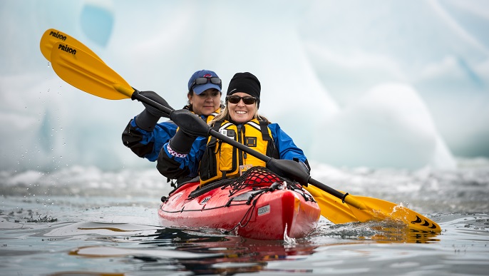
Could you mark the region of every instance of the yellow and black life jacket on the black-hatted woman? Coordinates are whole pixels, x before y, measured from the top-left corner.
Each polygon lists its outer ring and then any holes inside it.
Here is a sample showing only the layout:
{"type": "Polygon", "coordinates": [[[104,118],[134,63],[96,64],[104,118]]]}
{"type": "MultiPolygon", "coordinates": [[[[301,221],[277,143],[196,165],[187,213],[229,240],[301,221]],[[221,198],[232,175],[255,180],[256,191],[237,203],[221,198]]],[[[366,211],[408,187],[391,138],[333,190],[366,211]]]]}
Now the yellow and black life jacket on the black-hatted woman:
{"type": "MultiPolygon", "coordinates": [[[[239,126],[229,121],[216,121],[212,129],[259,153],[272,158],[279,158],[279,151],[275,146],[268,124],[267,121],[257,119],[239,126]]],[[[222,140],[210,136],[200,161],[200,185],[224,178],[238,177],[240,176],[240,166],[246,165],[264,167],[265,163],[228,143],[222,142],[222,140]]]]}

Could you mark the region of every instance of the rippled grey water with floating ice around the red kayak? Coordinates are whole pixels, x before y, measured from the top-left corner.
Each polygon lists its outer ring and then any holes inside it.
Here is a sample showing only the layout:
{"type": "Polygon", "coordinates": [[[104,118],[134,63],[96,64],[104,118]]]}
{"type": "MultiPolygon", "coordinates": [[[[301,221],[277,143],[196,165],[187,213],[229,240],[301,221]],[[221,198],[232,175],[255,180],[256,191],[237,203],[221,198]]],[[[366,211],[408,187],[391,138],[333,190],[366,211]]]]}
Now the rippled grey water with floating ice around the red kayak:
{"type": "Polygon", "coordinates": [[[486,163],[444,172],[314,169],[331,187],[403,203],[443,231],[321,218],[302,239],[249,240],[160,227],[160,195],[170,188],[153,170],[1,172],[0,274],[488,275],[486,163]]]}

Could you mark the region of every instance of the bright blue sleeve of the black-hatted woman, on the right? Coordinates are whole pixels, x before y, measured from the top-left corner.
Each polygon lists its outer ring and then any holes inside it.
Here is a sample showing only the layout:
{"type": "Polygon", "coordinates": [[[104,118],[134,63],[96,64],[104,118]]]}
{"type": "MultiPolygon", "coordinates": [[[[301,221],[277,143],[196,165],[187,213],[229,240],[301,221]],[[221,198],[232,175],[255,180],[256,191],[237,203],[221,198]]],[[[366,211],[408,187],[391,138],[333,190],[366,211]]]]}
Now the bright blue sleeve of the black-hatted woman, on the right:
{"type": "Polygon", "coordinates": [[[295,145],[294,140],[287,135],[282,128],[277,123],[270,123],[268,128],[272,132],[272,138],[277,145],[279,150],[280,159],[293,160],[294,158],[299,159],[302,163],[306,163],[307,158],[304,155],[304,151],[295,145]]]}

